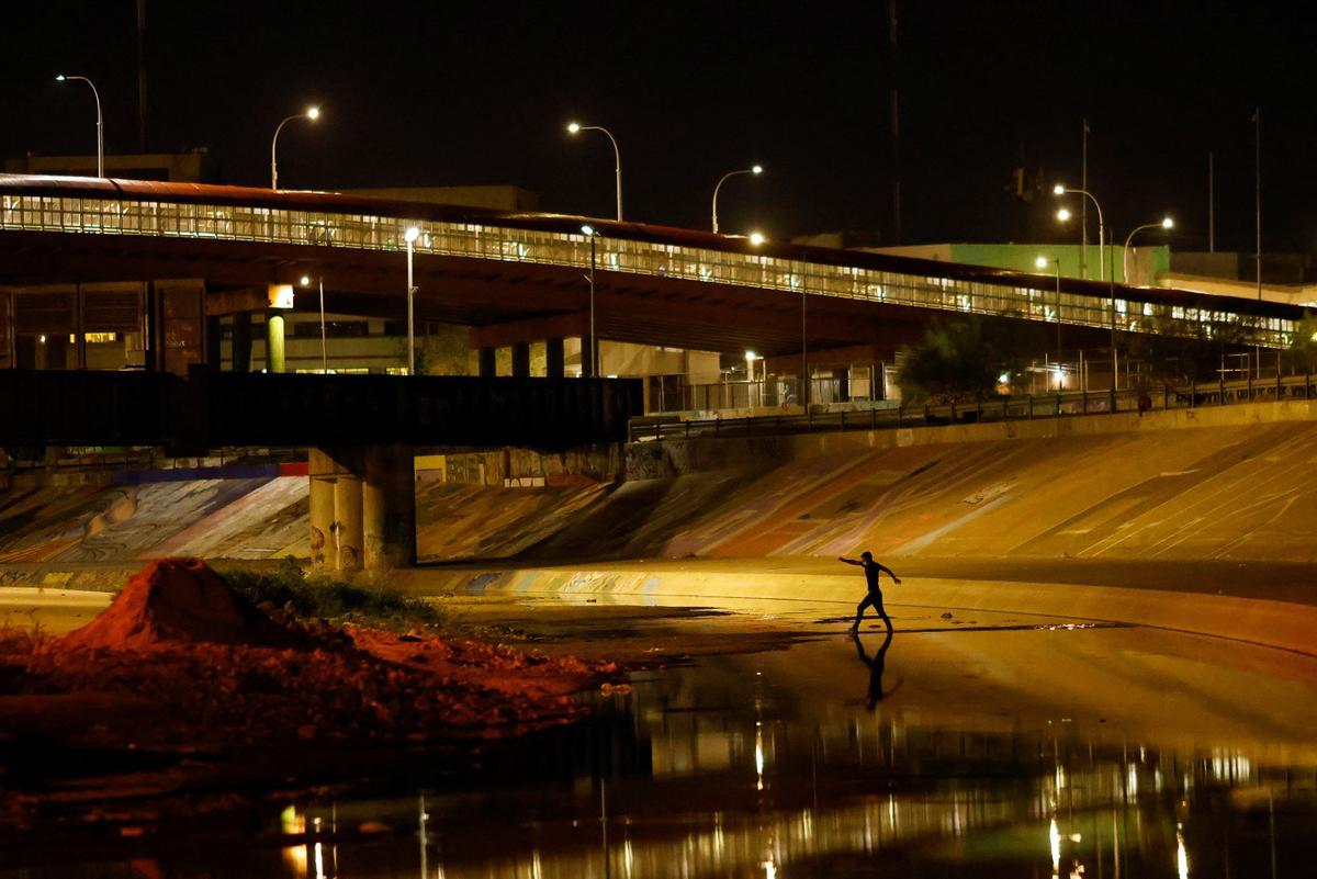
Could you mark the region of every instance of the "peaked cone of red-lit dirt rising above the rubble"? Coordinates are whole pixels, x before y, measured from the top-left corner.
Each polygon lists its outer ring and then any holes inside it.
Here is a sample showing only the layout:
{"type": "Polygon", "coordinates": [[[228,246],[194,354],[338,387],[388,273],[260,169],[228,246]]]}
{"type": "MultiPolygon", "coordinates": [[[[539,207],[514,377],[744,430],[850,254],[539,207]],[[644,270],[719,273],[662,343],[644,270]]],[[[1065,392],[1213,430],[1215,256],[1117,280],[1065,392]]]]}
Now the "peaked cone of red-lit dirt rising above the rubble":
{"type": "Polygon", "coordinates": [[[84,650],[155,650],[178,643],[286,647],[294,634],[236,593],[199,558],[167,558],[134,574],[115,603],[59,641],[84,650]]]}

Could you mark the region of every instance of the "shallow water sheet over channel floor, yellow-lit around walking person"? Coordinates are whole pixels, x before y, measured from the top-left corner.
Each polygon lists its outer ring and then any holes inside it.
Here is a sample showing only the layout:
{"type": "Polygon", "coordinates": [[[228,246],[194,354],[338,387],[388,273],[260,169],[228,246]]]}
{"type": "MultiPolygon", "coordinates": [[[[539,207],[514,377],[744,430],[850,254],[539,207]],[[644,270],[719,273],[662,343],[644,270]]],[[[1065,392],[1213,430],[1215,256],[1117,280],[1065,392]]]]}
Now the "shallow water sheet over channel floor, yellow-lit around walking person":
{"type": "Polygon", "coordinates": [[[1313,871],[1310,657],[940,608],[856,641],[809,601],[453,601],[510,641],[648,667],[568,730],[182,828],[129,817],[97,846],[9,847],[0,879],[1313,871]]]}

